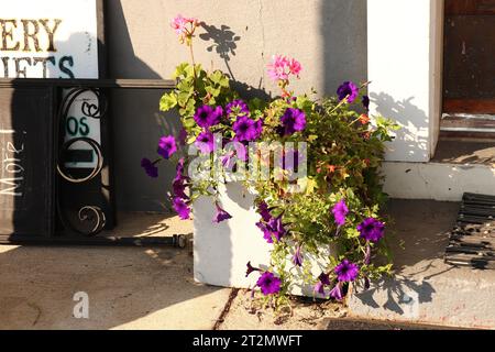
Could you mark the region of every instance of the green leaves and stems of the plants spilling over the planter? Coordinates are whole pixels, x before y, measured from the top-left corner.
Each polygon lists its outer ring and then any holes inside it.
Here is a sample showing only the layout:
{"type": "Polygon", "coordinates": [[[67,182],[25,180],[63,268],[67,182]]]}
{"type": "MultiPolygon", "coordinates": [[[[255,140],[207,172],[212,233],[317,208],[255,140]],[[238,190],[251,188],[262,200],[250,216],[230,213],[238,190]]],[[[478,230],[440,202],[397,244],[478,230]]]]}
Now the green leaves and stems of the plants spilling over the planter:
{"type": "MultiPolygon", "coordinates": [[[[201,132],[194,120],[196,110],[202,105],[224,108],[239,95],[231,89],[226,74],[220,70],[206,72],[201,65],[180,64],[174,78],[177,79],[177,88],[162,97],[160,109],[178,109],[187,132],[187,143],[191,144],[201,132]]],[[[275,306],[287,304],[286,295],[295,280],[315,283],[316,277],[308,262],[297,271],[290,262],[296,244],[302,246],[305,254],[320,258],[328,255],[322,249],[330,245],[337,248],[338,252],[323,257],[328,264],[323,268],[326,273],[332,273],[343,258],[360,266],[361,278],[376,278],[389,273],[391,254],[386,241],[377,244],[365,241],[360,237],[358,226],[366,218],[381,218],[381,208],[387,197],[382,189],[380,167],[385,143],[393,140],[391,132],[398,127],[383,117],[376,117],[374,123],[369,123],[367,117],[363,118],[358,111],[361,108],[340,102],[333,97],[317,99],[301,95],[293,99],[263,101],[255,98],[246,102],[251,119],[263,120],[260,140],[308,144],[307,176],[296,182],[302,191],[292,191],[295,182],[288,177],[277,179],[272,175],[268,180],[248,177],[245,182],[246,188],[255,189],[256,202],[265,201],[274,217],[283,215],[284,226],[288,230],[286,237],[275,241],[270,263],[270,270],[283,282],[280,293],[267,297],[266,301],[275,302],[275,306]],[[301,132],[280,136],[280,117],[287,108],[304,111],[307,124],[301,132]],[[331,210],[342,199],[350,212],[345,224],[338,227],[331,210]],[[376,266],[364,260],[369,246],[373,255],[385,257],[384,265],[376,266]]],[[[232,139],[232,124],[233,119],[222,119],[211,128],[211,132],[232,139]]],[[[201,195],[217,197],[219,182],[211,177],[191,185],[191,200],[201,195]]]]}

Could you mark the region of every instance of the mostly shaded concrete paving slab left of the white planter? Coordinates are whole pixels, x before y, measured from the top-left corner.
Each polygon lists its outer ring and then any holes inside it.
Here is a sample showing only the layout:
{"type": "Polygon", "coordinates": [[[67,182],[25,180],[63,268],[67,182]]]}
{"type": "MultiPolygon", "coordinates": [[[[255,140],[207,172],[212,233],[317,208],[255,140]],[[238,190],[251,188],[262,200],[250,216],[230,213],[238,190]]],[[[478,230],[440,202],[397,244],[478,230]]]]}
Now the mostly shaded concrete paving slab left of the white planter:
{"type": "MultiPolygon", "coordinates": [[[[191,232],[157,215],[128,215],[121,227],[191,232]]],[[[229,293],[194,282],[190,246],[0,246],[0,329],[211,329],[229,293]],[[89,319],[74,317],[78,292],[88,294],[89,319]]]]}

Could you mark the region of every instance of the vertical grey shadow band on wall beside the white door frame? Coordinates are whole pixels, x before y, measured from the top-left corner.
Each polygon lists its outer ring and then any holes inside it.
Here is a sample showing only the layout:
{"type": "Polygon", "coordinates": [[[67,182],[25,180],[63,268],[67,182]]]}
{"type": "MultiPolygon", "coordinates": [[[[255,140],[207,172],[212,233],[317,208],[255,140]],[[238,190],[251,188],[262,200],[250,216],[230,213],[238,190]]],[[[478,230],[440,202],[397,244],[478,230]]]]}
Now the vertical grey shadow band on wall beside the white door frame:
{"type": "Polygon", "coordinates": [[[346,80],[367,80],[367,1],[321,1],[324,94],[346,80]]]}

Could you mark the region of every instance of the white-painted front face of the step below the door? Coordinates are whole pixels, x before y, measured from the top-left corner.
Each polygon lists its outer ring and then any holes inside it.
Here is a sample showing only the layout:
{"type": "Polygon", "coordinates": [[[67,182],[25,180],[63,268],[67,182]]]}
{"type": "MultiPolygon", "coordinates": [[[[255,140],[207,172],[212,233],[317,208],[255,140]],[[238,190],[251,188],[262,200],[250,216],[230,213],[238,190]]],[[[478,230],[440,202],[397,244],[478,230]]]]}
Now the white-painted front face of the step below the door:
{"type": "Polygon", "coordinates": [[[460,201],[464,193],[495,196],[495,165],[396,163],[383,165],[393,198],[460,201]]]}

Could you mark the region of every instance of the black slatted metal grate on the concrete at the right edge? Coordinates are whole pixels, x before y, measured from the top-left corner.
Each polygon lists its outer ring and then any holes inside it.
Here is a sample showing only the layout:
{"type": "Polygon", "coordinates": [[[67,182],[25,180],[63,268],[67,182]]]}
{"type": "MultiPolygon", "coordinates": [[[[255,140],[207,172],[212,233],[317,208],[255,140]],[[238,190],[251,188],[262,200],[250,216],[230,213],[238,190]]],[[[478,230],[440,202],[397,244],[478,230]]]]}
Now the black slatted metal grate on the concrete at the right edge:
{"type": "Polygon", "coordinates": [[[495,270],[495,196],[464,194],[446,263],[495,270]]]}

